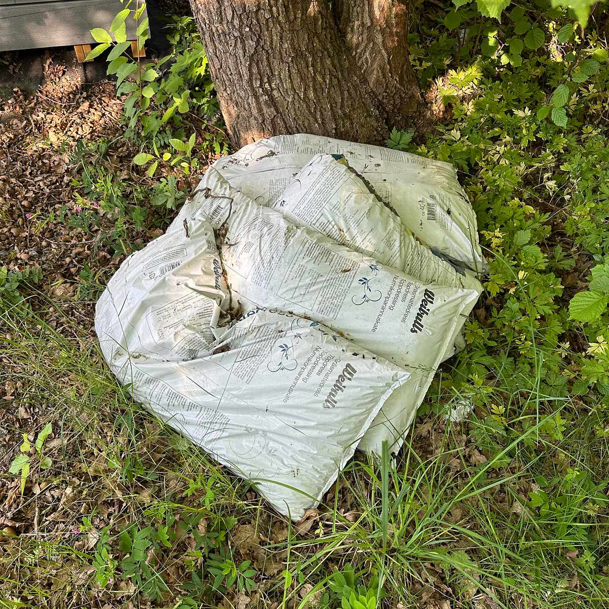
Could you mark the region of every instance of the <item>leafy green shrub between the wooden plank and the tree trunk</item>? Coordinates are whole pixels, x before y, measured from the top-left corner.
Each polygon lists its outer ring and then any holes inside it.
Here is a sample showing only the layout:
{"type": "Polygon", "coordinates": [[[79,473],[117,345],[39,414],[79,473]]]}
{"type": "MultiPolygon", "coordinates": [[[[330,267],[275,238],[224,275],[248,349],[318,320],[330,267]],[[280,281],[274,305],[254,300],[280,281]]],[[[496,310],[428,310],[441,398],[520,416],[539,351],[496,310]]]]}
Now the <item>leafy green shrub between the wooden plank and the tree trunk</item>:
{"type": "MultiPolygon", "coordinates": [[[[124,0],[123,0],[124,1],[124,0]]],[[[213,82],[207,68],[207,55],[196,29],[194,19],[173,18],[169,41],[172,51],[157,63],[135,60],[127,54],[130,42],[126,40],[126,21],[135,19],[138,46],[149,37],[149,23],[142,18],[145,2],[135,9],[127,7],[116,15],[110,31],[97,27],[91,35],[99,44],[88,58],[94,58],[111,49],[107,61],[109,75],[116,76],[116,93],[125,97],[124,115],[128,138],[139,141],[148,150],[135,155],[133,162],[148,165],[152,177],[160,163],[179,167],[186,174],[196,171],[198,159],[192,157],[196,134],[186,135],[186,115],[194,116],[211,125],[219,114],[213,82]],[[113,40],[114,37],[114,40],[113,40]]],[[[226,152],[228,143],[224,132],[216,128],[203,135],[205,148],[215,153],[226,152]]]]}

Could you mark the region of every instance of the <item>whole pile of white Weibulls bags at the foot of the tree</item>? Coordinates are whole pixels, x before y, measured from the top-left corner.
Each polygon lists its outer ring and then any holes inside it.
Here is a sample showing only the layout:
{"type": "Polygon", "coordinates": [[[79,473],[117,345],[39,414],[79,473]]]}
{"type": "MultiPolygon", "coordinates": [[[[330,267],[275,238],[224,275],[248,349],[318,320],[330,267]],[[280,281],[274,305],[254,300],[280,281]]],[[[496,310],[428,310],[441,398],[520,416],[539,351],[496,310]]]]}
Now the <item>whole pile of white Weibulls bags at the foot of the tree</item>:
{"type": "Polygon", "coordinates": [[[214,163],[96,331],[135,400],[299,519],[356,446],[400,448],[484,269],[450,164],[276,136],[214,163]]]}

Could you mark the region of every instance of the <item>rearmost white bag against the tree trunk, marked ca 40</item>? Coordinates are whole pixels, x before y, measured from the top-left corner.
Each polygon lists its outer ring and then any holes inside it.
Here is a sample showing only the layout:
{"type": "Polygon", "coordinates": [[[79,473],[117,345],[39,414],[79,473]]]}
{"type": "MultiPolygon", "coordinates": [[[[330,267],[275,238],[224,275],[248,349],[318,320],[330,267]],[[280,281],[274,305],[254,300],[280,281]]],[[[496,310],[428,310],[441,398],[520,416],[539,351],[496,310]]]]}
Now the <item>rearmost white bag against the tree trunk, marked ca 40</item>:
{"type": "Polygon", "coordinates": [[[213,167],[257,203],[269,205],[318,153],[344,155],[422,242],[470,269],[485,271],[476,214],[450,163],[301,133],[260,139],[213,167]]]}

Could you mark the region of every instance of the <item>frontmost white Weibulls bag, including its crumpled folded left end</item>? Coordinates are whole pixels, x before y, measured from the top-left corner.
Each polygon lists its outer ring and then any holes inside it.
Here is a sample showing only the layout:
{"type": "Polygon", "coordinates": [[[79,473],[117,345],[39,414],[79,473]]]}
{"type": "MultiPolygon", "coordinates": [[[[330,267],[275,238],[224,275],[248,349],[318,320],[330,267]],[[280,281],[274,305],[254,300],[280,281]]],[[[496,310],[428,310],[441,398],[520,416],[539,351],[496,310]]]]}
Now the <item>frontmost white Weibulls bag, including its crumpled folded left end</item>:
{"type": "Polygon", "coordinates": [[[250,311],[214,339],[227,304],[217,252],[205,222],[188,232],[113,276],[96,307],[102,352],[135,400],[300,519],[409,374],[285,312],[250,311]]]}

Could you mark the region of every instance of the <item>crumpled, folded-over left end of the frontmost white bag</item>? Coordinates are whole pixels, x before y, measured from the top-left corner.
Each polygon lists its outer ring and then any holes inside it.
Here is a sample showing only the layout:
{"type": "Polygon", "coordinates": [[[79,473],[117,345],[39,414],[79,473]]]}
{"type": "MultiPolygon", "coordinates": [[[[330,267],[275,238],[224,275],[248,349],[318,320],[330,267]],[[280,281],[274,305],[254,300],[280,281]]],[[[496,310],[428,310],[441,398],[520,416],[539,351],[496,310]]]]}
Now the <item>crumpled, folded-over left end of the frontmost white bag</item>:
{"type": "Polygon", "coordinates": [[[228,304],[213,230],[192,222],[188,238],[182,227],[125,259],[97,303],[97,336],[114,367],[128,352],[192,359],[216,340],[212,328],[227,322],[228,304]]]}

